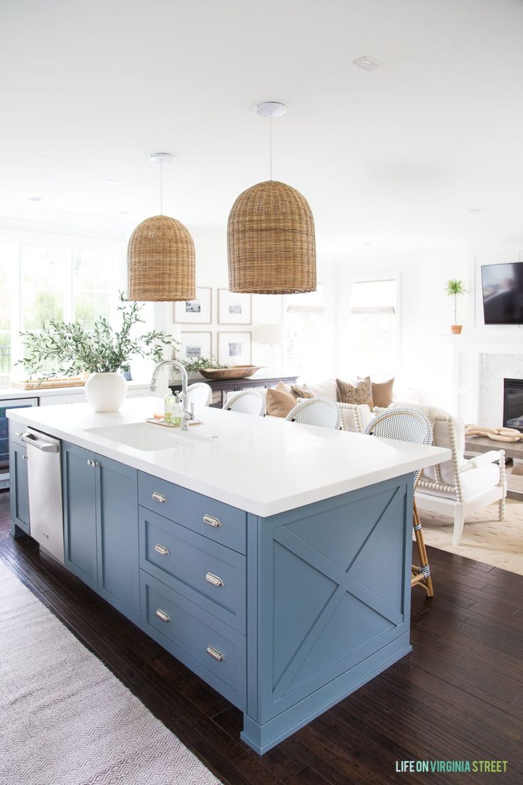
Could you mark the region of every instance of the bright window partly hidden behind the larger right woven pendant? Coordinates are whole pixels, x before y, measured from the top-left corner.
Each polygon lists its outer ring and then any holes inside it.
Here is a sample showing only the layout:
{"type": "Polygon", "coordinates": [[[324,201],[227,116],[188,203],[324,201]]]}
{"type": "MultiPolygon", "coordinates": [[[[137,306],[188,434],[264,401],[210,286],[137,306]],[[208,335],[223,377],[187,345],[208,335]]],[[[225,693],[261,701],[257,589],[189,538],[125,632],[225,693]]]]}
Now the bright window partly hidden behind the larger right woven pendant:
{"type": "Polygon", "coordinates": [[[324,290],[285,297],[285,366],[289,373],[318,380],[329,371],[331,351],[325,326],[324,290]]]}

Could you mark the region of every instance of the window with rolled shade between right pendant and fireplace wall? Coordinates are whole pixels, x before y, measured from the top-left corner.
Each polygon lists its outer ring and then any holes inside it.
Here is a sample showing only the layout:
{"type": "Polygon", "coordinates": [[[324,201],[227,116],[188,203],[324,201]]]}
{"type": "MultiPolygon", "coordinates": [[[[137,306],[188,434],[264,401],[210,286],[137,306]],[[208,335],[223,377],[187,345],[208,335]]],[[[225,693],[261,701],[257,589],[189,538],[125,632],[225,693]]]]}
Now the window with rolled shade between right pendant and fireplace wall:
{"type": "Polygon", "coordinates": [[[349,345],[350,364],[358,374],[395,374],[398,357],[396,276],[352,283],[349,345]]]}

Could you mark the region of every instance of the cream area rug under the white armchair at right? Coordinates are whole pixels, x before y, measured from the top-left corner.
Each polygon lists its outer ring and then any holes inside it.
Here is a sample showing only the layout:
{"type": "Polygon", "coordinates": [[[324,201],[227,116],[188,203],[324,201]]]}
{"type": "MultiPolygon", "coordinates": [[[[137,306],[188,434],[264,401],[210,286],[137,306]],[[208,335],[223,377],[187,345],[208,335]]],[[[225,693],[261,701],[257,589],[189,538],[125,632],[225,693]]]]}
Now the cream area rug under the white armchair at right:
{"type": "Polygon", "coordinates": [[[507,499],[503,523],[498,520],[497,504],[467,516],[463,536],[457,546],[452,546],[452,518],[423,510],[419,510],[419,516],[427,545],[523,575],[522,502],[507,499]]]}

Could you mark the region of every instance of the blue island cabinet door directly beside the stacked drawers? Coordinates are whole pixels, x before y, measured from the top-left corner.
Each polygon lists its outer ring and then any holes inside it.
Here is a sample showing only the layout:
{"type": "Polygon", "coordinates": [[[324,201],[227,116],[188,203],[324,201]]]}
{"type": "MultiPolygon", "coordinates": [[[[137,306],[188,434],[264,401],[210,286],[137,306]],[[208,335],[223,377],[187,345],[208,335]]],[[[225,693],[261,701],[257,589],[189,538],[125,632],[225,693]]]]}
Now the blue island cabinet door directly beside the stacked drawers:
{"type": "Polygon", "coordinates": [[[103,455],[96,462],[98,593],[138,624],[138,473],[103,455]]]}

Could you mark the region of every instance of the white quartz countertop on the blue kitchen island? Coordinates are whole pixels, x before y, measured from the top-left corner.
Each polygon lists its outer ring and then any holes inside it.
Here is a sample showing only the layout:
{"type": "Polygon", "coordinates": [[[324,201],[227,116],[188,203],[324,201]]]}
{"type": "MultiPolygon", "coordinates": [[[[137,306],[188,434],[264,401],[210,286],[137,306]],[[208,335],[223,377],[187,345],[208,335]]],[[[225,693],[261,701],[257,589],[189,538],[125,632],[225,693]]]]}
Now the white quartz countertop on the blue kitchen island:
{"type": "MultiPolygon", "coordinates": [[[[191,491],[262,517],[433,466],[449,450],[297,425],[220,409],[196,410],[202,424],[162,431],[173,446],[144,451],[90,429],[144,422],[154,398],[128,399],[118,412],[87,403],[11,409],[7,416],[71,444],[113,458],[191,491]],[[89,430],[88,430],[89,429],[89,430]]],[[[148,432],[147,432],[148,433],[148,432]]],[[[162,436],[162,440],[165,438],[162,436]]]]}

